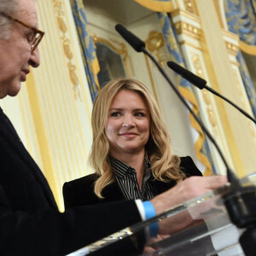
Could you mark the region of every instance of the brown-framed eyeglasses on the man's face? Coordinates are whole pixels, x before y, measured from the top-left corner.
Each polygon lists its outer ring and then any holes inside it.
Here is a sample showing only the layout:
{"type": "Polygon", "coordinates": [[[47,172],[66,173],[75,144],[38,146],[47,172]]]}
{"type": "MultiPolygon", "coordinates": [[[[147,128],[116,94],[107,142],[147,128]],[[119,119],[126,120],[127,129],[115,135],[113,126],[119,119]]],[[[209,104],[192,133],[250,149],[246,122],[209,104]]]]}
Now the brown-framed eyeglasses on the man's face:
{"type": "Polygon", "coordinates": [[[31,52],[33,52],[38,47],[38,44],[44,37],[43,31],[40,31],[35,27],[26,25],[24,22],[17,20],[9,15],[3,14],[3,13],[0,13],[0,15],[3,15],[4,17],[9,18],[10,20],[14,20],[15,22],[20,23],[22,26],[26,26],[27,28],[31,29],[32,32],[28,34],[26,37],[28,43],[31,44],[31,52]]]}

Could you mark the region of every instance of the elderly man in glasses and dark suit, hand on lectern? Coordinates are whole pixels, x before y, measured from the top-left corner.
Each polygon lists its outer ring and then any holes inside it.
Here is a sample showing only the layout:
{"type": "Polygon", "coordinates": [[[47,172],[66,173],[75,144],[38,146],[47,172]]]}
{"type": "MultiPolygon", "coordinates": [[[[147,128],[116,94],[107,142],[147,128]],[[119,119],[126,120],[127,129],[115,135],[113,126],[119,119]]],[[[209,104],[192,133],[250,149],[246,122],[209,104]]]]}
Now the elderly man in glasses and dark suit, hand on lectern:
{"type": "MultiPolygon", "coordinates": [[[[30,68],[39,66],[37,46],[44,32],[38,30],[34,0],[0,0],[0,27],[3,98],[16,96],[30,68]]],[[[225,177],[188,178],[149,205],[159,213],[224,183],[225,177]],[[194,182],[196,189],[191,189],[194,182]],[[192,192],[188,195],[186,189],[192,192]]],[[[141,221],[143,211],[140,201],[119,201],[59,212],[43,173],[1,109],[0,255],[65,255],[141,221]]],[[[163,230],[160,226],[160,232],[167,232],[163,230]]]]}

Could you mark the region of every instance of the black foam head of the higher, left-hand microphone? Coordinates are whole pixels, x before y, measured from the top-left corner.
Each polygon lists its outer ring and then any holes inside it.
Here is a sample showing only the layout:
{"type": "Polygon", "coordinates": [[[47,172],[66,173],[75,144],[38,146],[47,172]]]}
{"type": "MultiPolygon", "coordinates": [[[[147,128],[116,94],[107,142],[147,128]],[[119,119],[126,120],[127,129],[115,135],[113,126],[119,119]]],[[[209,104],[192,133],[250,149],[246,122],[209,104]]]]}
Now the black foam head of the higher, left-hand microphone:
{"type": "Polygon", "coordinates": [[[115,26],[115,30],[119,32],[125,41],[136,51],[141,52],[143,48],[145,48],[145,43],[140,38],[137,38],[137,36],[135,36],[133,33],[128,31],[125,26],[118,24],[115,26]]]}

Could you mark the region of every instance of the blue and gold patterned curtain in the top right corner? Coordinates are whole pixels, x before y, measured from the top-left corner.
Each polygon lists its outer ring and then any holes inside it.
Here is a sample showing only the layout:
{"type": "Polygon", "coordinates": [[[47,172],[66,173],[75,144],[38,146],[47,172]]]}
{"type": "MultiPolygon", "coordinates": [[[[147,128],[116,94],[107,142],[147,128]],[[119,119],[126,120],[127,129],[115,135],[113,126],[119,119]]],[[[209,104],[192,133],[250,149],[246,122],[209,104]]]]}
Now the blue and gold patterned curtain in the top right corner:
{"type": "MultiPolygon", "coordinates": [[[[256,57],[256,2],[255,0],[225,0],[224,10],[230,32],[236,33],[241,42],[251,46],[256,57]]],[[[247,91],[247,96],[256,117],[256,90],[247,70],[246,62],[238,52],[236,56],[240,63],[241,79],[247,91]]]]}

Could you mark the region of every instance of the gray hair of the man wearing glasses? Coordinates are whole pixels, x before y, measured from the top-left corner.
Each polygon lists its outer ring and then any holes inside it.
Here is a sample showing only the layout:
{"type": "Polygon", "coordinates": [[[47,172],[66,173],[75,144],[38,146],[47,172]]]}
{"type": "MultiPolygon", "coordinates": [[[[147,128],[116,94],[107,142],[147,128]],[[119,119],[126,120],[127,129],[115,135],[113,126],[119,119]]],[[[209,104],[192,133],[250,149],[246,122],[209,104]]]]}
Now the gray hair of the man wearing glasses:
{"type": "Polygon", "coordinates": [[[0,0],[0,39],[9,39],[12,20],[1,14],[13,16],[18,9],[19,0],[0,0]]]}

